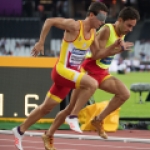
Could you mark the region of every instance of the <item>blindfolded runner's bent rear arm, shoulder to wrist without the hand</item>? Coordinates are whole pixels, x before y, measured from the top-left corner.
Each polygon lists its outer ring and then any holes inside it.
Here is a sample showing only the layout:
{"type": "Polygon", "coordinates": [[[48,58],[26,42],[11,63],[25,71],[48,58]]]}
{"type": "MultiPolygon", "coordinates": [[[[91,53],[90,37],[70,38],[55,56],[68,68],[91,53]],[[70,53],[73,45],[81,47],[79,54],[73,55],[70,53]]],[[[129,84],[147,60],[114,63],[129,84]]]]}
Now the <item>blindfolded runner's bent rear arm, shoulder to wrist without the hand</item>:
{"type": "Polygon", "coordinates": [[[48,32],[50,31],[50,28],[52,26],[66,30],[68,32],[78,31],[80,29],[79,22],[75,21],[73,19],[65,19],[65,18],[60,18],[60,17],[46,19],[46,21],[43,25],[41,34],[40,34],[39,42],[41,44],[44,44],[45,38],[46,38],[46,36],[47,36],[48,32]]]}

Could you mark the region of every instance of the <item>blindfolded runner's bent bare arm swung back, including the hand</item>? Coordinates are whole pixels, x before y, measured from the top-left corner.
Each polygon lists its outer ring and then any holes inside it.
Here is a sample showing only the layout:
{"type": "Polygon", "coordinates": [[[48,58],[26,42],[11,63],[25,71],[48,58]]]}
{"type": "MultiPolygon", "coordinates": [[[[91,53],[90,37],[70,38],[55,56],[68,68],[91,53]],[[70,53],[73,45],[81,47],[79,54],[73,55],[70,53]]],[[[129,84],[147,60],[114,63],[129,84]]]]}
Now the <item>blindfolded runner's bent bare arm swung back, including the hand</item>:
{"type": "Polygon", "coordinates": [[[74,19],[65,19],[60,17],[46,19],[40,34],[40,39],[35,44],[34,49],[31,52],[33,56],[37,56],[40,51],[44,51],[45,38],[52,26],[65,30],[64,36],[66,40],[74,40],[80,30],[79,21],[75,21],[74,19]]]}

